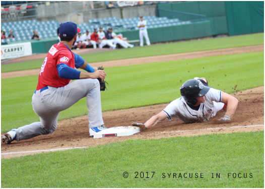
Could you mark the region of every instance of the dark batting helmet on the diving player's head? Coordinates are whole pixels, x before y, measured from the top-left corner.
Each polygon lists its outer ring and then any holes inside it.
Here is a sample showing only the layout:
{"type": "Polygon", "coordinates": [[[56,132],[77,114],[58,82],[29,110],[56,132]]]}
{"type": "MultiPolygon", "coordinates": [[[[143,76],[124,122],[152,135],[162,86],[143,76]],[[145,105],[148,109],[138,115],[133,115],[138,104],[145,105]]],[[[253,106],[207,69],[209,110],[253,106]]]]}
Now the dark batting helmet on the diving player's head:
{"type": "Polygon", "coordinates": [[[184,98],[187,104],[195,105],[197,103],[197,97],[206,95],[210,90],[209,86],[204,86],[199,80],[188,80],[180,87],[180,94],[184,98]]]}

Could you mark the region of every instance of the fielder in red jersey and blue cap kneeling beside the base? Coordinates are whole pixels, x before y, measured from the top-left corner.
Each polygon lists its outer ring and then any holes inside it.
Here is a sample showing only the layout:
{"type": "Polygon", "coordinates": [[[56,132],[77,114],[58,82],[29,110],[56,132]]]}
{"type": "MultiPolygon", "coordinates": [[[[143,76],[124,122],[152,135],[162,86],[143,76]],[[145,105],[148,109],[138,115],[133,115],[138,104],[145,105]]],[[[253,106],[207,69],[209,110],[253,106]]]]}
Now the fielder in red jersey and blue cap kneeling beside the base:
{"type": "Polygon", "coordinates": [[[63,23],[59,28],[60,42],[52,45],[41,66],[37,89],[32,96],[32,107],[40,122],[11,130],[2,137],[4,143],[53,133],[57,128],[60,111],[68,109],[84,97],[87,99],[90,136],[106,129],[97,80],[100,78],[104,81],[106,73],[100,67],[92,68],[81,56],[71,51],[78,32],[80,29],[75,23],[63,23]],[[75,67],[87,72],[80,72],[75,67]]]}

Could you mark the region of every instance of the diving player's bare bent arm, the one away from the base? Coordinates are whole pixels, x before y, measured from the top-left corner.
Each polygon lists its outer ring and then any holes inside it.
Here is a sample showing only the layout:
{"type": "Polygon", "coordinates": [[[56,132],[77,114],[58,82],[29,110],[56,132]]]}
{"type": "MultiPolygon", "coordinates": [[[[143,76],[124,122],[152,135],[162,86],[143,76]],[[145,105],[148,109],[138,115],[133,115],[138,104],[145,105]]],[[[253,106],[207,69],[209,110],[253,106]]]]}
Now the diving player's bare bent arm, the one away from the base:
{"type": "Polygon", "coordinates": [[[235,97],[225,92],[222,92],[221,102],[227,104],[227,110],[226,110],[225,116],[227,115],[227,116],[232,117],[236,111],[238,100],[235,97]]]}

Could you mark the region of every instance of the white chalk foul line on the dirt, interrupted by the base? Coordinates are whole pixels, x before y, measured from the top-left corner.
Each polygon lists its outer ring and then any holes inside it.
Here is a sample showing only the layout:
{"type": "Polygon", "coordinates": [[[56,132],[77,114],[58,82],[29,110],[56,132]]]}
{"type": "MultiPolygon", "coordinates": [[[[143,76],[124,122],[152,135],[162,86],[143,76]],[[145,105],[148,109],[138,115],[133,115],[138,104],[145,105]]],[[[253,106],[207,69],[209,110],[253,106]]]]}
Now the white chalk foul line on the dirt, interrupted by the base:
{"type": "MultiPolygon", "coordinates": [[[[236,126],[236,127],[230,127],[230,128],[208,128],[208,129],[198,129],[198,130],[169,131],[169,132],[159,132],[159,133],[179,133],[179,132],[190,132],[190,131],[217,130],[217,129],[220,130],[220,129],[232,129],[232,128],[259,127],[259,126],[264,126],[264,124],[247,125],[247,126],[236,126]]],[[[56,148],[56,149],[50,149],[50,150],[34,150],[34,151],[24,151],[24,152],[9,152],[9,153],[1,153],[1,155],[34,153],[34,152],[52,152],[52,151],[71,150],[71,149],[80,149],[80,148],[87,148],[87,147],[56,148]]]]}

